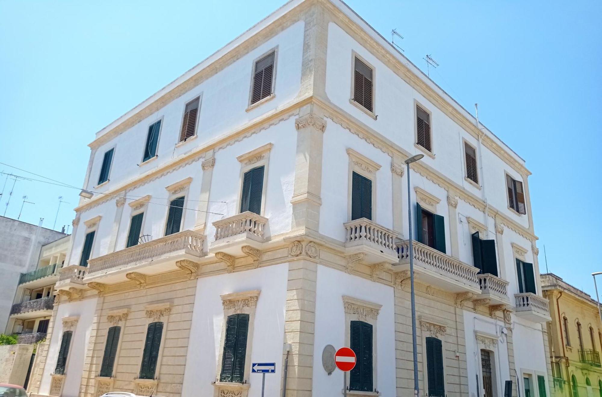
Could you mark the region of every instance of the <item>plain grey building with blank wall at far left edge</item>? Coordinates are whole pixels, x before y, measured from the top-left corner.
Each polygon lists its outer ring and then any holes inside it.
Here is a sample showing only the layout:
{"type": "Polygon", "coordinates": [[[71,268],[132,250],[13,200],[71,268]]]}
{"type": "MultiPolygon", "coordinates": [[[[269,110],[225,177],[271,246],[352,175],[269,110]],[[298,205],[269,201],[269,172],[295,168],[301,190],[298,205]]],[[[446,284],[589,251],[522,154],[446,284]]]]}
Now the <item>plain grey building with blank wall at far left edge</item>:
{"type": "Polygon", "coordinates": [[[7,327],[8,317],[20,277],[36,269],[43,245],[64,236],[65,233],[45,227],[0,217],[0,333],[12,330],[7,327]]]}

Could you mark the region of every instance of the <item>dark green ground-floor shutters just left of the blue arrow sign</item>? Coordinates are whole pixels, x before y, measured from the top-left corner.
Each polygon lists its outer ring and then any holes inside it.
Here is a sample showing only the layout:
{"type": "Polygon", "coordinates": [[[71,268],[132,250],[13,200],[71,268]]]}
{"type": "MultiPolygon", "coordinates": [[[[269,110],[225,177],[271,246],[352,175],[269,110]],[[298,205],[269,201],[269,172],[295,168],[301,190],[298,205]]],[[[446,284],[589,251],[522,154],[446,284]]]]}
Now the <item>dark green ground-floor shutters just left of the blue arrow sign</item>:
{"type": "Polygon", "coordinates": [[[248,333],[249,315],[240,313],[228,316],[220,382],[244,382],[244,361],[247,354],[248,333]]]}

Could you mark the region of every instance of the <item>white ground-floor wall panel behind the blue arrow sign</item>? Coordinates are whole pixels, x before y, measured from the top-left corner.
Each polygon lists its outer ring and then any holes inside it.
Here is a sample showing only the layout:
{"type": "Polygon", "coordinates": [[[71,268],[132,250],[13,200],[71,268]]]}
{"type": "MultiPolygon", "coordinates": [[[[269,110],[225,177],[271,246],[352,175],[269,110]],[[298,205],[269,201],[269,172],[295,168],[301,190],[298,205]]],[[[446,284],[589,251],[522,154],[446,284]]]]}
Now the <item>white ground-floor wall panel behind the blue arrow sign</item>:
{"type": "MultiPolygon", "coordinates": [[[[251,362],[276,362],[265,376],[265,396],[277,396],[282,380],[284,312],[288,263],[232,274],[203,277],[197,283],[182,396],[212,396],[224,312],[220,295],[261,290],[253,322],[251,362]]],[[[250,374],[249,397],[261,395],[261,375],[250,374]]]]}

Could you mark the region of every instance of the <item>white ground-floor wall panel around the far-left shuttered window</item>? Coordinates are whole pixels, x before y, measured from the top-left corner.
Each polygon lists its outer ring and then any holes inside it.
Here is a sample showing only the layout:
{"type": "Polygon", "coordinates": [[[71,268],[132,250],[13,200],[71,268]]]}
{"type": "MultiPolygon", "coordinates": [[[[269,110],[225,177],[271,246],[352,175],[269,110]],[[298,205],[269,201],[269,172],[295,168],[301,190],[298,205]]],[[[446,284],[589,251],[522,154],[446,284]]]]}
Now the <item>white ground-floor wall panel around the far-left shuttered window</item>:
{"type": "Polygon", "coordinates": [[[90,330],[92,329],[92,320],[96,310],[96,300],[98,298],[85,299],[78,302],[61,303],[58,305],[57,315],[54,318],[54,328],[48,355],[46,356],[46,365],[40,384],[40,394],[48,395],[50,392],[51,376],[57,365],[58,349],[61,346],[63,338],[63,317],[79,316],[79,321],[71,339],[69,348],[69,357],[65,368],[65,383],[63,386],[63,397],[79,396],[79,385],[81,384],[82,371],[84,369],[85,351],[90,341],[90,330]]]}

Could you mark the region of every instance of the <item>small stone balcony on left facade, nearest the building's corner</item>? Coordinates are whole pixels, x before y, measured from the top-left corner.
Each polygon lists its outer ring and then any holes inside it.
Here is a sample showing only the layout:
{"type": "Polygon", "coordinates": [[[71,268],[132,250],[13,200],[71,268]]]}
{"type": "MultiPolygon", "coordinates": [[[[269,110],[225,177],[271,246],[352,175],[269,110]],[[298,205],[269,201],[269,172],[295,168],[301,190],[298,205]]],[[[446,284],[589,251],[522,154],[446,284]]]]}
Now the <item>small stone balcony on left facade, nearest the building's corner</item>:
{"type": "Polygon", "coordinates": [[[247,245],[261,249],[265,240],[267,218],[245,211],[233,217],[215,221],[215,241],[209,245],[209,252],[224,252],[231,256],[240,256],[241,248],[247,245]]]}

